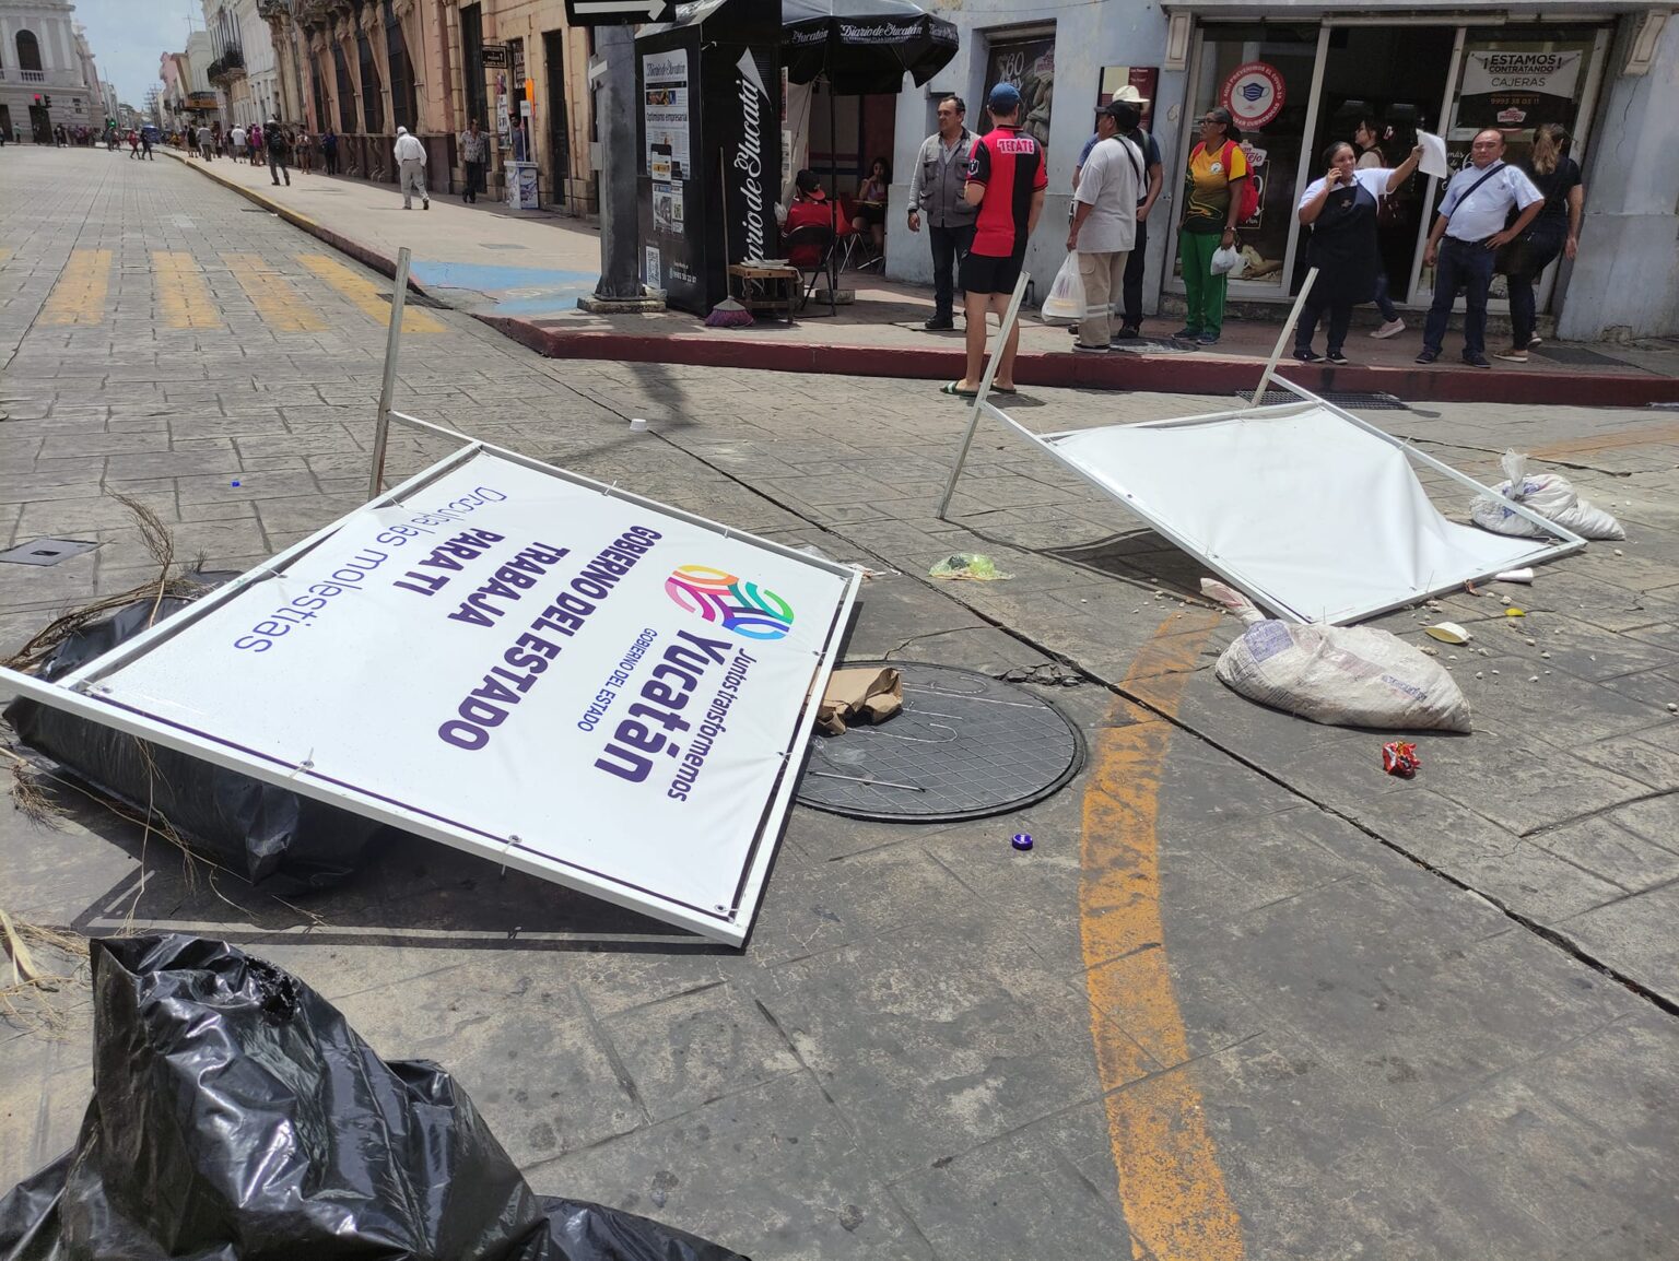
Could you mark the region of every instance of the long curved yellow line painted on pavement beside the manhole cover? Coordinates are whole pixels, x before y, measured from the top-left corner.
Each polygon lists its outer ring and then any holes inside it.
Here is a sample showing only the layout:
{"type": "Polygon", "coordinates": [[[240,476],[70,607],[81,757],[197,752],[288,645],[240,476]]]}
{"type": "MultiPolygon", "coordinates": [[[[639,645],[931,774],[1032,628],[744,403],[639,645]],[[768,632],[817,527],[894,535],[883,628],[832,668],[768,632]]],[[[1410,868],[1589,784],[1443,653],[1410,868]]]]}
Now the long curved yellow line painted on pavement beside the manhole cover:
{"type": "MultiPolygon", "coordinates": [[[[1125,690],[1159,714],[1175,714],[1217,623],[1202,611],[1167,618],[1132,663],[1125,690]]],[[[1095,740],[1080,882],[1090,1031],[1133,1256],[1147,1249],[1159,1261],[1241,1261],[1241,1219],[1194,1071],[1138,1081],[1148,1071],[1138,1044],[1169,1066],[1189,1060],[1160,925],[1157,823],[1172,724],[1159,714],[1115,702],[1111,717],[1128,725],[1103,727],[1095,740]]]]}

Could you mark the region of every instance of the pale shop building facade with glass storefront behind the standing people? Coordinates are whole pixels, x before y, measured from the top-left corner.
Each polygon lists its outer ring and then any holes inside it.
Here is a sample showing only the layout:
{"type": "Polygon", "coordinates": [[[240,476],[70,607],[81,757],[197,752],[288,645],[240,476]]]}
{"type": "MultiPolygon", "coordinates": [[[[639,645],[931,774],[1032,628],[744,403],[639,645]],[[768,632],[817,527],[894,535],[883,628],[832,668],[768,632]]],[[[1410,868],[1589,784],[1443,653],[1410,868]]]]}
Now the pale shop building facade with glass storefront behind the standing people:
{"type": "MultiPolygon", "coordinates": [[[[986,91],[999,79],[1026,99],[1026,126],[1048,148],[1049,195],[1028,250],[1043,297],[1064,257],[1073,166],[1093,114],[1122,84],[1150,99],[1148,126],[1160,143],[1165,190],[1147,247],[1145,306],[1172,307],[1184,285],[1175,218],[1192,119],[1212,106],[1246,121],[1244,149],[1263,186],[1259,213],[1244,223],[1246,275],[1234,302],[1286,304],[1305,272],[1305,238],[1295,205],[1320,175],[1331,139],[1352,139],[1360,116],[1390,133],[1387,160],[1409,153],[1415,131],[1446,139],[1461,165],[1483,126],[1506,134],[1521,160],[1533,128],[1563,123],[1585,173],[1580,254],[1555,264],[1540,297],[1563,337],[1671,336],[1679,332],[1679,166],[1657,146],[1679,111],[1679,18],[1632,0],[1513,0],[1449,3],[1407,0],[1271,0],[1264,20],[1246,0],[1100,0],[1090,5],[964,0],[939,5],[962,32],[962,50],[922,89],[861,107],[845,99],[831,154],[845,178],[868,161],[875,136],[890,134],[893,207],[908,195],[908,163],[935,129],[945,92],[969,104],[984,129],[986,91]],[[856,116],[850,128],[846,121],[856,116]]],[[[821,104],[811,112],[813,148],[826,148],[821,104]]],[[[792,138],[798,144],[798,138],[792,138]]],[[[829,154],[811,154],[821,165],[829,154]]],[[[1417,178],[1402,193],[1382,252],[1394,299],[1420,311],[1432,301],[1424,242],[1442,181],[1417,178]]],[[[888,275],[930,282],[925,233],[888,215],[888,275]]],[[[1494,290],[1498,306],[1499,290],[1494,290]]]]}

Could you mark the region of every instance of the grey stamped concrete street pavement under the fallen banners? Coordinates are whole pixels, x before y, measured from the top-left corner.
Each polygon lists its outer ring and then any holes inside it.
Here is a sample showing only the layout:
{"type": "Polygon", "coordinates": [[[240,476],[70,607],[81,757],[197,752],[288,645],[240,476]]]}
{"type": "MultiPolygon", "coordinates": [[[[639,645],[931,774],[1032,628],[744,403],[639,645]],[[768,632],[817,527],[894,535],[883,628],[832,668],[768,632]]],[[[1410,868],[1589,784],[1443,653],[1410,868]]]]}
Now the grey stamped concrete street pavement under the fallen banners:
{"type": "MultiPolygon", "coordinates": [[[[118,492],[222,568],[356,505],[388,294],[173,165],[30,156],[0,207],[0,519],[99,547],[0,566],[5,645],[153,573],[118,492]]],[[[1024,443],[987,428],[939,521],[965,413],[922,386],[556,364],[415,314],[405,410],[895,571],[848,655],[1059,663],[1083,774],[960,824],[796,809],[740,952],[405,838],[279,902],[69,786],[59,829],[0,816],[0,905],[245,944],[383,1054],[452,1068],[539,1190],[761,1258],[1676,1254],[1671,416],[1377,416],[1479,475],[1530,447],[1630,536],[1511,588],[1521,630],[1496,594],[1446,601],[1489,648],[1449,662],[1476,734],[1420,740],[1402,784],[1383,737],[1222,690],[1234,626],[1187,559],[1024,443]],[[1014,576],[923,578],[955,551],[1014,576]]],[[[445,450],[403,435],[393,472],[445,450]]],[[[0,1185],[86,1105],[64,1001],[65,1041],[0,1026],[0,1185]]]]}

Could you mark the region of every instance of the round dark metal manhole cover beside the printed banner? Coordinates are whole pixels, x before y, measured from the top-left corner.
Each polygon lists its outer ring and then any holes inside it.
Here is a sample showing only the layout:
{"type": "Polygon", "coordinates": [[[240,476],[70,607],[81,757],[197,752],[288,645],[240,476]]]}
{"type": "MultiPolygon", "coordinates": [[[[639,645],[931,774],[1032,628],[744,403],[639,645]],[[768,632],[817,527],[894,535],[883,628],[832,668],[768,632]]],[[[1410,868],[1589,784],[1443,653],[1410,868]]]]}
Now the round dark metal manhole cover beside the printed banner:
{"type": "Polygon", "coordinates": [[[878,727],[813,735],[804,806],[856,819],[977,819],[1043,801],[1071,779],[1085,742],[1061,710],[975,670],[895,667],[903,709],[878,727]]]}

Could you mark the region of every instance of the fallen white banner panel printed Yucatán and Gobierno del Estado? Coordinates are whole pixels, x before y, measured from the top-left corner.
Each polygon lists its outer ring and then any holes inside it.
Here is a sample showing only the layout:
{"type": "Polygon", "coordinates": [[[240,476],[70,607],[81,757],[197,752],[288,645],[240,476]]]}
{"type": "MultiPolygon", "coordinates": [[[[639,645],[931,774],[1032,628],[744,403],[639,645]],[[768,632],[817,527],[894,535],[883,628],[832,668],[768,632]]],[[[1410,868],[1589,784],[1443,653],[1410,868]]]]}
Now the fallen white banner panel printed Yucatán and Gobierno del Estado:
{"type": "Polygon", "coordinates": [[[855,573],[482,448],[408,487],[87,667],[89,697],[742,940],[855,573]]]}

